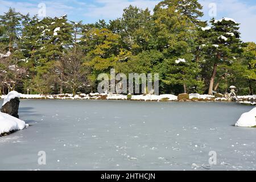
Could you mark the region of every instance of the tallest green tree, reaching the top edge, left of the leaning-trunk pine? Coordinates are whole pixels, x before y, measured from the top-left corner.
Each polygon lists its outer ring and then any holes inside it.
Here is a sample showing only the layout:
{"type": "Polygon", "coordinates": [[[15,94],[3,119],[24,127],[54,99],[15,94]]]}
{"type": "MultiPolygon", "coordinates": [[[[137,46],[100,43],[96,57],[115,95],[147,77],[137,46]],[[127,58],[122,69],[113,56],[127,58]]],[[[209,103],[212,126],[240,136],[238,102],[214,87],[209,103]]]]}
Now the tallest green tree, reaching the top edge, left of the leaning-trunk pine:
{"type": "Polygon", "coordinates": [[[184,93],[199,92],[203,87],[198,76],[200,67],[192,53],[196,28],[202,24],[197,19],[203,15],[200,9],[197,1],[163,1],[154,9],[154,45],[164,53],[163,67],[167,67],[160,70],[162,81],[182,85],[184,93]]]}

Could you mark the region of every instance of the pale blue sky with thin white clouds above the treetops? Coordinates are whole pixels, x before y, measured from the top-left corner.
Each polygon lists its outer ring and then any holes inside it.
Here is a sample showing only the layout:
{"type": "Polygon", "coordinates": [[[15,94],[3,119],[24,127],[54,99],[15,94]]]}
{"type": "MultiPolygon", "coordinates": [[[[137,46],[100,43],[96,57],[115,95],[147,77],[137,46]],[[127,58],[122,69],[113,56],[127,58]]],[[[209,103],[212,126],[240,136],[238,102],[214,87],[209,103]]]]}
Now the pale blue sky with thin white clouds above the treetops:
{"type": "MultiPolygon", "coordinates": [[[[122,15],[122,10],[134,5],[150,10],[159,0],[0,0],[0,14],[6,12],[9,7],[14,7],[23,14],[38,14],[39,3],[45,3],[47,16],[61,16],[68,14],[69,20],[84,23],[93,23],[98,19],[115,19],[122,15]]],[[[241,36],[245,42],[256,42],[256,1],[255,0],[199,0],[204,6],[204,20],[212,18],[209,16],[209,4],[216,3],[216,17],[233,18],[241,23],[241,36]]]]}

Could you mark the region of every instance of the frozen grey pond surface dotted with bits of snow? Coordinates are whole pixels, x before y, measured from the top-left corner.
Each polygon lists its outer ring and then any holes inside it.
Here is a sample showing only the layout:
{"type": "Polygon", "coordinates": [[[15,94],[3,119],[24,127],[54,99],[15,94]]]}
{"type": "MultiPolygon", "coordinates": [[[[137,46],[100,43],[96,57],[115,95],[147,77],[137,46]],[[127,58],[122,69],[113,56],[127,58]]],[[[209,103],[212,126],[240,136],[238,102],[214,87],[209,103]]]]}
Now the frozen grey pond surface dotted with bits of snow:
{"type": "MultiPolygon", "coordinates": [[[[2,105],[2,101],[1,105],[2,105]]],[[[225,102],[22,100],[31,126],[0,138],[0,169],[254,170],[253,106],[225,102]],[[38,152],[46,152],[46,165],[38,152]],[[216,151],[217,164],[209,165],[216,151]]]]}

